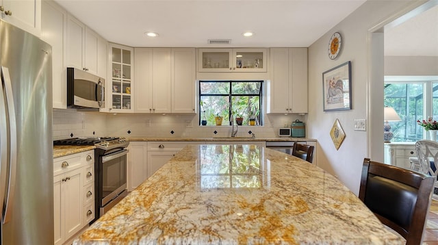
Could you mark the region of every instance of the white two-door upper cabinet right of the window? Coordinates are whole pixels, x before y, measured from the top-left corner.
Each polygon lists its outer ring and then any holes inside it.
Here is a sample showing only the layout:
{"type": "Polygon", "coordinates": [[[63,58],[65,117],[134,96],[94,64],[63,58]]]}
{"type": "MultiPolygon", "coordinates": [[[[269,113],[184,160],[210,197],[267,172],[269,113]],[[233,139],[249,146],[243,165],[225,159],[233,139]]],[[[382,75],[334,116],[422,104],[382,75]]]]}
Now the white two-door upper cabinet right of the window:
{"type": "Polygon", "coordinates": [[[270,49],[267,113],[307,113],[307,48],[270,49]]]}

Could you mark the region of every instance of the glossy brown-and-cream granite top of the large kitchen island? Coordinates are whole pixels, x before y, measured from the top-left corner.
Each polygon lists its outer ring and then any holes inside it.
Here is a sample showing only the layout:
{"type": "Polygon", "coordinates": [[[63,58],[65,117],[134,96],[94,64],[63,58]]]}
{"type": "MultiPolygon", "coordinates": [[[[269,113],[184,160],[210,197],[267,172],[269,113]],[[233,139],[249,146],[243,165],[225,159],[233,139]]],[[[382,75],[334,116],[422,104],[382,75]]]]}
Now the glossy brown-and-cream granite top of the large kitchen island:
{"type": "Polygon", "coordinates": [[[73,244],[404,244],[340,181],[255,145],[188,145],[73,244]]]}

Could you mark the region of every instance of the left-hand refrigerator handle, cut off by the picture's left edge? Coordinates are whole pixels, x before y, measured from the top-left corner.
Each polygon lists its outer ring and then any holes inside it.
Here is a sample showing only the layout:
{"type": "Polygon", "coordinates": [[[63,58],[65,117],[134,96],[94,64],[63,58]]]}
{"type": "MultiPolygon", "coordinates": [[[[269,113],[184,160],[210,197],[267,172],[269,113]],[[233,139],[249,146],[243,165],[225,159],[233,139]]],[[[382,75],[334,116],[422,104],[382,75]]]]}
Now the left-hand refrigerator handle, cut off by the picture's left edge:
{"type": "MultiPolygon", "coordinates": [[[[8,152],[9,152],[9,125],[8,125],[8,111],[6,109],[5,101],[5,83],[1,79],[0,83],[0,201],[5,200],[6,179],[8,179],[8,152]],[[4,125],[4,127],[3,127],[4,125]]],[[[2,207],[3,209],[3,207],[2,207]]],[[[0,214],[3,217],[3,210],[0,214]]]]}

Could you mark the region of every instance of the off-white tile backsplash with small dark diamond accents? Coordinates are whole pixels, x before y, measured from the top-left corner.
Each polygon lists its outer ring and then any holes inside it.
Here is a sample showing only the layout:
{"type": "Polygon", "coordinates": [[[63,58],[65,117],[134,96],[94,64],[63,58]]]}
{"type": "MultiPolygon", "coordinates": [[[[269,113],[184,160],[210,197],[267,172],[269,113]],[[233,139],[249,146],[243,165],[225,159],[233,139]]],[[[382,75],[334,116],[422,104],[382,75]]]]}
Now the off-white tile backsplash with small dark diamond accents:
{"type": "MultiPolygon", "coordinates": [[[[250,133],[258,137],[276,137],[279,127],[290,127],[296,119],[304,120],[305,116],[268,115],[264,118],[264,126],[239,126],[237,137],[251,136],[250,133]]],[[[231,127],[200,126],[196,114],[105,114],[53,109],[53,140],[92,136],[209,138],[231,136],[231,127]]]]}

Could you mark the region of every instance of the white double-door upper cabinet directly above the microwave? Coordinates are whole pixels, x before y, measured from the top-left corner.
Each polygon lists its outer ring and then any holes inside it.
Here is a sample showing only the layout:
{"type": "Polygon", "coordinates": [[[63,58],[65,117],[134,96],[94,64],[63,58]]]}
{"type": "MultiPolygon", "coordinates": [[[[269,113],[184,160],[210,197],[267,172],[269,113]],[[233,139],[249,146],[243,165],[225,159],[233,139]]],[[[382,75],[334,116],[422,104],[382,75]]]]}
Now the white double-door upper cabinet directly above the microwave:
{"type": "Polygon", "coordinates": [[[67,66],[106,78],[106,57],[107,42],[77,18],[68,14],[67,66]]]}

